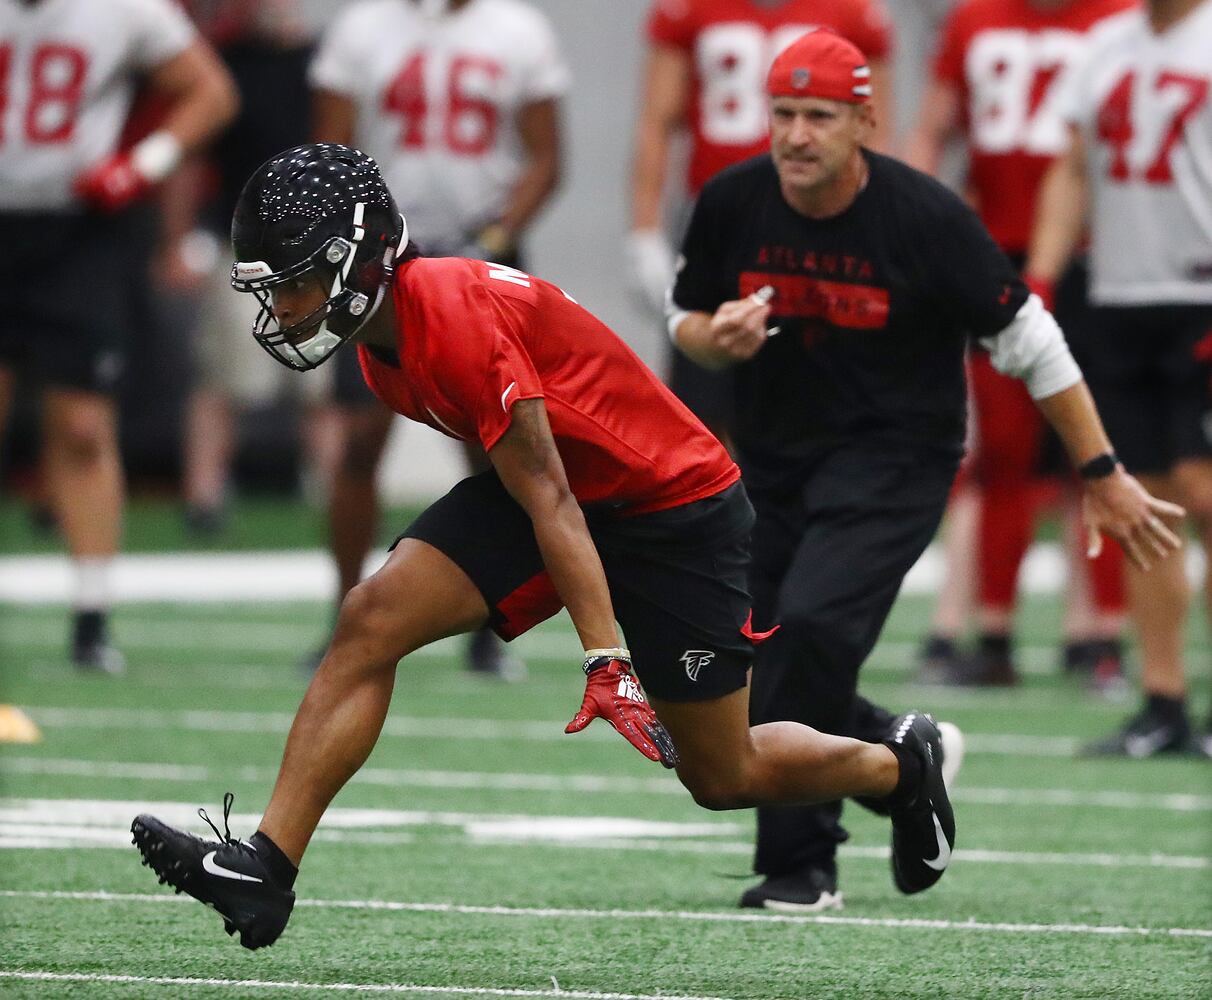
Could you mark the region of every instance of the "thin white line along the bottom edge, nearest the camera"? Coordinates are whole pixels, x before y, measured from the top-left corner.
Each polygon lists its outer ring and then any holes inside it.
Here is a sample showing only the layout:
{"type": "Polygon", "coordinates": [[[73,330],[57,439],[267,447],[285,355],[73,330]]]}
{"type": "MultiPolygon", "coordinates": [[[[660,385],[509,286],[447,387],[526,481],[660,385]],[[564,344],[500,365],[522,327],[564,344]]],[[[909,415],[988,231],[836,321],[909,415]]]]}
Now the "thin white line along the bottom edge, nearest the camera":
{"type": "Polygon", "coordinates": [[[421,993],[457,996],[568,996],[574,1000],[727,1000],[724,996],[687,996],[650,993],[599,993],[584,989],[505,989],[503,987],[433,987],[417,983],[301,983],[274,979],[201,979],[193,976],[118,976],[101,972],[40,972],[0,970],[0,978],[48,983],[128,983],[166,987],[233,987],[235,989],[325,989],[339,993],[421,993]]]}

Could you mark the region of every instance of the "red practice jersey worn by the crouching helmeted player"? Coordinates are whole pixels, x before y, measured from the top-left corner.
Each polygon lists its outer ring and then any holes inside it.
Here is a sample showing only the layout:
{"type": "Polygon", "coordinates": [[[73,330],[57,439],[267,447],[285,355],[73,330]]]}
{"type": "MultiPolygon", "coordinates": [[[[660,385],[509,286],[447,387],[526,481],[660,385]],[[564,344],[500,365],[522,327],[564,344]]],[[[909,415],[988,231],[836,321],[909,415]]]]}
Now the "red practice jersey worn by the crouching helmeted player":
{"type": "Polygon", "coordinates": [[[720,442],[605,324],[548,281],[502,264],[422,257],[400,268],[400,367],[365,345],[390,408],[491,448],[511,407],[542,399],[582,504],[644,514],[731,486],[720,442]]]}

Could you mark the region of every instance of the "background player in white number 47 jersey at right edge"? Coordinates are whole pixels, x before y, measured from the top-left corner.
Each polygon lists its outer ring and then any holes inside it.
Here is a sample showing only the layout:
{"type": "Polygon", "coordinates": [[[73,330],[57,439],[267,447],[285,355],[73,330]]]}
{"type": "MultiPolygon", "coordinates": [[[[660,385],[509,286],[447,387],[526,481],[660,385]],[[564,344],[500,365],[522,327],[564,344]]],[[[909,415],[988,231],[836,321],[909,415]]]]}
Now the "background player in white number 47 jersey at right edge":
{"type": "MultiPolygon", "coordinates": [[[[1097,341],[1091,385],[1124,465],[1184,503],[1212,542],[1212,2],[1149,0],[1104,23],[1063,96],[1070,144],[1040,193],[1028,273],[1058,280],[1086,224],[1097,341]]],[[[1151,756],[1190,745],[1182,560],[1130,567],[1145,701],[1091,747],[1151,756]]],[[[1208,726],[1212,733],[1212,725],[1208,726]]]]}

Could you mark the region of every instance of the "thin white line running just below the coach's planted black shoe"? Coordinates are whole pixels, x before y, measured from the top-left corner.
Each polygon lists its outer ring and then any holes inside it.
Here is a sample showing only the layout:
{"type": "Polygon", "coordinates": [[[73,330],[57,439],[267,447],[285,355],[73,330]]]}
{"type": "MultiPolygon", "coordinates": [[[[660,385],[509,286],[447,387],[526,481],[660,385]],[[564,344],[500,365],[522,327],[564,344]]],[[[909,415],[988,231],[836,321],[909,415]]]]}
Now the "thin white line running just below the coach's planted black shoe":
{"type": "MultiPolygon", "coordinates": [[[[0,890],[0,898],[63,899],[99,903],[185,903],[188,896],[142,892],[63,892],[0,890]]],[[[984,920],[928,920],[892,916],[828,916],[824,914],[737,913],[734,910],[624,910],[558,907],[484,907],[461,903],[410,903],[394,899],[299,899],[296,907],[316,909],[385,910],[390,913],[446,913],[459,916],[522,916],[581,920],[686,920],[707,924],[811,924],[839,927],[885,927],[924,931],[977,931],[985,933],[1099,935],[1107,937],[1212,938],[1207,927],[1132,927],[1104,924],[1011,924],[984,920]]],[[[673,1000],[673,998],[662,998],[673,1000]]]]}

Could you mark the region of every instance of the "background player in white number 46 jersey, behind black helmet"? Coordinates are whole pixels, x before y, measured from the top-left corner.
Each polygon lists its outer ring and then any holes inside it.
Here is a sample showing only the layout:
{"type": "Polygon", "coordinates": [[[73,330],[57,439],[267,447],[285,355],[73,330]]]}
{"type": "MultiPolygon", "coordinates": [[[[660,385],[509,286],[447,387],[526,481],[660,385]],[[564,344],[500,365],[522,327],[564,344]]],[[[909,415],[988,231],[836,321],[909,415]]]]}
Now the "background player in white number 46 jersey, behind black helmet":
{"type": "MultiPolygon", "coordinates": [[[[314,138],[355,144],[382,164],[428,256],[521,264],[520,241],[559,181],[568,86],[543,15],[520,0],[360,0],[325,34],[310,80],[314,138]]],[[[393,415],[366,389],[353,352],[335,368],[342,444],[328,532],[339,606],[375,539],[393,415]]],[[[486,468],[474,442],[467,455],[473,470],[486,468]]],[[[481,673],[521,674],[487,629],[468,659],[481,673]]]]}

